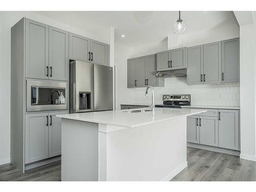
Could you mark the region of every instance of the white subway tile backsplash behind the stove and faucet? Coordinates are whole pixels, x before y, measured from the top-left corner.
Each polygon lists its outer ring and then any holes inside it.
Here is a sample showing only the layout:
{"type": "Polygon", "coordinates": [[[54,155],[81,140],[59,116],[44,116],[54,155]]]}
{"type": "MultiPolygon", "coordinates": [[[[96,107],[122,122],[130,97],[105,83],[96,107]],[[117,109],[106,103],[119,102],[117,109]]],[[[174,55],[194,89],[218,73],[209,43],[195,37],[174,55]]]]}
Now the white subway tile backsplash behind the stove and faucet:
{"type": "MultiPolygon", "coordinates": [[[[211,106],[239,106],[240,83],[197,84],[188,86],[186,77],[165,78],[165,87],[154,87],[155,103],[162,103],[163,94],[190,94],[191,104],[211,106]]],[[[136,88],[134,102],[150,103],[151,93],[145,98],[145,89],[136,88]]]]}

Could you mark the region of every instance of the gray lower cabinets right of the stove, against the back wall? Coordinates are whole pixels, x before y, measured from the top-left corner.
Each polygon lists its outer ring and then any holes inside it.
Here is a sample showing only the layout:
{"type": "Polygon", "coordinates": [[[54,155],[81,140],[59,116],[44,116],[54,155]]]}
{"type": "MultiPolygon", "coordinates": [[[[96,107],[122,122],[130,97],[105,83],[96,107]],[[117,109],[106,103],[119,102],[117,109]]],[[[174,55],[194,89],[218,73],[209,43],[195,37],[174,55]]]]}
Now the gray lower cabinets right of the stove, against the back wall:
{"type": "Polygon", "coordinates": [[[240,150],[239,110],[206,110],[187,117],[187,142],[240,150]]]}

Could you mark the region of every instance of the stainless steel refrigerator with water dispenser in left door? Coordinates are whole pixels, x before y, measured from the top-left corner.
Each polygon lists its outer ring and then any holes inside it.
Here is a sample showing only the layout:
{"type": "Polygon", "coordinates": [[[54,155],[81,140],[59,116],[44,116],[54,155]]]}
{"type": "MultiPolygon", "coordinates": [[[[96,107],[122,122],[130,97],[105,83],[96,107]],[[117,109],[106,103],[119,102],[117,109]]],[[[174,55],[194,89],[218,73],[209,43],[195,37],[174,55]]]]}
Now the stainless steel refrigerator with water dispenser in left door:
{"type": "Polygon", "coordinates": [[[113,110],[113,68],[70,61],[70,113],[113,110]]]}

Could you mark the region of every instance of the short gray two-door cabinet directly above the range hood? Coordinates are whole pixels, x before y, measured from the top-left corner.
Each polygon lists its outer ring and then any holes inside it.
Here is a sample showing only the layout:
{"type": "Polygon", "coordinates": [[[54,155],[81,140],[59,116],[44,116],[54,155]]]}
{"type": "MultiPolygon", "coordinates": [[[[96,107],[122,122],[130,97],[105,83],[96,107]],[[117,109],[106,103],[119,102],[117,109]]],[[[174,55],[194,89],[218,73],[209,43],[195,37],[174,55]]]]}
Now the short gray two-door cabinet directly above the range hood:
{"type": "Polygon", "coordinates": [[[185,47],[157,53],[157,71],[185,69],[186,67],[185,47]]]}

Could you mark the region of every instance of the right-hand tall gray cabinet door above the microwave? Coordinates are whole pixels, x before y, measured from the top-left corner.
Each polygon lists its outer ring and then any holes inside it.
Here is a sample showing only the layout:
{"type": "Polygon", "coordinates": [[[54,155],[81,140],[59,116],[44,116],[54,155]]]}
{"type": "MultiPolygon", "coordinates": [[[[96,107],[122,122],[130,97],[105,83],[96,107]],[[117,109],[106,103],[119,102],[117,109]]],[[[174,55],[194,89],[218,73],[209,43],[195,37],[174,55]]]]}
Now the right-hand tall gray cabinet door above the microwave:
{"type": "Polygon", "coordinates": [[[69,80],[68,32],[49,27],[49,79],[69,80]]]}

